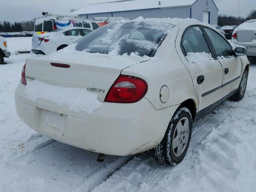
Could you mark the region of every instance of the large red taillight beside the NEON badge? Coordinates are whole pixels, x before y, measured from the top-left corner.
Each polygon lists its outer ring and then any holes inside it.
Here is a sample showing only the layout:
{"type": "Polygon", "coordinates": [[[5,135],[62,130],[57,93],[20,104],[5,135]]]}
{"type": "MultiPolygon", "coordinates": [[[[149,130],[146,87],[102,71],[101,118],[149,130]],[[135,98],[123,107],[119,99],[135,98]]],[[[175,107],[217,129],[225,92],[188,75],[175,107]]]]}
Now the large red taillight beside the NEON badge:
{"type": "Polygon", "coordinates": [[[120,75],[111,86],[105,102],[135,103],[148,91],[148,84],[141,78],[120,75]]]}

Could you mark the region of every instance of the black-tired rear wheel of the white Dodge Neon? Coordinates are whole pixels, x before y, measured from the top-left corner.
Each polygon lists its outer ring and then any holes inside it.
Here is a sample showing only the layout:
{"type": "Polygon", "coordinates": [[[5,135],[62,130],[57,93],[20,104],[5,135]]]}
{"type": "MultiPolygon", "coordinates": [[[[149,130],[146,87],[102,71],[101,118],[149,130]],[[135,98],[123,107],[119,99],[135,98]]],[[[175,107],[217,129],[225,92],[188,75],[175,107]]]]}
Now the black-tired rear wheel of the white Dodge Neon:
{"type": "MultiPolygon", "coordinates": [[[[185,122],[184,122],[185,124],[185,122]]],[[[182,124],[183,125],[183,124],[182,124]]],[[[180,107],[176,112],[174,113],[174,116],[172,117],[168,128],[166,130],[166,133],[164,135],[164,138],[160,142],[158,146],[152,149],[152,153],[154,158],[165,165],[169,166],[175,166],[179,164],[185,157],[186,152],[188,150],[188,146],[190,143],[190,138],[191,138],[191,132],[192,132],[192,116],[188,108],[186,107],[180,107]],[[188,120],[188,126],[186,128],[186,146],[184,146],[182,139],[184,140],[184,132],[178,133],[177,130],[178,127],[177,124],[182,123],[183,119],[188,120]],[[182,153],[180,156],[175,155],[175,149],[178,151],[178,147],[173,149],[173,140],[175,138],[179,138],[178,142],[182,145],[182,153]],[[184,146],[184,148],[183,148],[184,146]]],[[[178,144],[178,145],[180,145],[178,144]]]]}

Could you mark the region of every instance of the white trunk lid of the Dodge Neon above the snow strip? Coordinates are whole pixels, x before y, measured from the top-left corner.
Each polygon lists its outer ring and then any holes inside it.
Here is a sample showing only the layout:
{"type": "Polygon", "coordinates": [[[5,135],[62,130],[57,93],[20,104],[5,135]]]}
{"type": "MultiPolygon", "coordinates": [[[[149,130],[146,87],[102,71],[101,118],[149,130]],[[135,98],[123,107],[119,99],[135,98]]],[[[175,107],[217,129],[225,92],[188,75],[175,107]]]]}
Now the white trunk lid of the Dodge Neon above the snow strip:
{"type": "Polygon", "coordinates": [[[58,52],[27,60],[26,80],[34,79],[55,86],[83,88],[97,93],[100,102],[104,102],[108,90],[121,71],[145,60],[147,58],[58,52]],[[70,68],[52,66],[51,63],[67,64],[70,68]]]}

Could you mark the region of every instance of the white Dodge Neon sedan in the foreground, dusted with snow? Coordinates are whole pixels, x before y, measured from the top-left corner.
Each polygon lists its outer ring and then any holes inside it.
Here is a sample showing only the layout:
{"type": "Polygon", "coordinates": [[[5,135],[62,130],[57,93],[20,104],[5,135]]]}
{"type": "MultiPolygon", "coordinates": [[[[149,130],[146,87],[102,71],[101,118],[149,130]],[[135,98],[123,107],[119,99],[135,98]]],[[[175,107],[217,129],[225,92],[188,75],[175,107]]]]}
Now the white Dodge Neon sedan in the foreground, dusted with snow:
{"type": "Polygon", "coordinates": [[[176,165],[192,123],[227,98],[244,97],[245,53],[197,20],[109,24],[27,60],[16,110],[28,126],[60,142],[118,156],[152,149],[158,162],[176,165]]]}

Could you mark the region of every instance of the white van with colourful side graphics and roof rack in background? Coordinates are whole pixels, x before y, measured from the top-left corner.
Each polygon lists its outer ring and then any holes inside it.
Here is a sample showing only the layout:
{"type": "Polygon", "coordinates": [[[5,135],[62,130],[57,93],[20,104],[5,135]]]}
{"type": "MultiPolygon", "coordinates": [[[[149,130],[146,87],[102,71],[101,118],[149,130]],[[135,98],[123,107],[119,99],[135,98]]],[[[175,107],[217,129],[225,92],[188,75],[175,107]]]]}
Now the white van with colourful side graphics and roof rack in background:
{"type": "Polygon", "coordinates": [[[100,26],[91,20],[79,18],[76,14],[42,12],[44,17],[35,22],[34,35],[51,32],[58,28],[83,27],[95,30],[100,26]]]}

